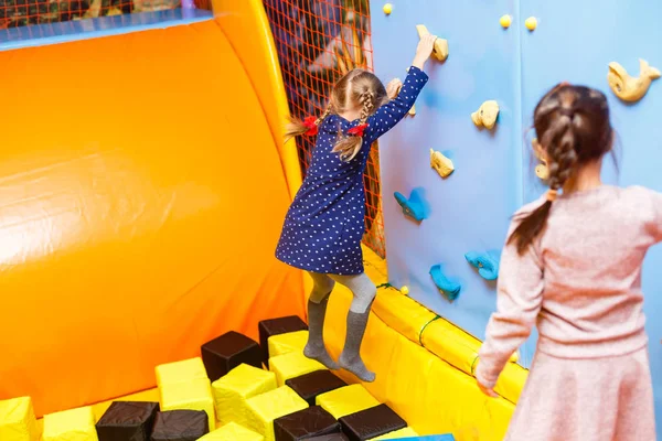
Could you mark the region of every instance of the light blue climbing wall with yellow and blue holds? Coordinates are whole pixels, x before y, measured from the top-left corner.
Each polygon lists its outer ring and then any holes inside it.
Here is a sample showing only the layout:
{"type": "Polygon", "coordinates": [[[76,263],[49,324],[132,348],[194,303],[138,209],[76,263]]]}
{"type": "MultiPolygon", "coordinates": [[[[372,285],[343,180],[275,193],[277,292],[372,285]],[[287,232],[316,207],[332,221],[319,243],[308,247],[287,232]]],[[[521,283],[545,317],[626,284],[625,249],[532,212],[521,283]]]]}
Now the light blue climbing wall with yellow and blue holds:
{"type": "MultiPolygon", "coordinates": [[[[373,0],[375,71],[387,80],[404,77],[418,41],[416,24],[449,41],[445,64],[434,60],[430,82],[419,97],[417,115],[380,141],[383,209],[391,282],[410,287],[412,297],[476,336],[495,308],[495,286],[465,260],[467,251],[495,251],[505,239],[510,216],[544,187],[533,172],[527,132],[533,108],[551,86],[569,80],[606,92],[619,133],[619,173],[606,161],[609,183],[642,184],[662,191],[662,79],[636,105],[616,98],[607,85],[607,65],[621,63],[639,75],[638,58],[662,68],[662,2],[638,0],[392,0],[382,13],[373,0]],[[509,30],[499,18],[513,17],[509,30]],[[524,20],[538,28],[528,32],[524,20]],[[658,84],[659,83],[659,84],[658,84]],[[470,114],[495,99],[501,114],[493,131],[480,130],[470,114]],[[456,172],[442,180],[429,164],[429,149],[448,152],[456,172]],[[423,195],[429,217],[420,225],[403,215],[394,192],[423,195]],[[460,297],[447,301],[429,276],[433,265],[462,284],[460,297]]],[[[581,222],[581,219],[577,219],[581,222]]],[[[651,338],[651,368],[658,424],[662,424],[662,249],[653,248],[643,272],[645,311],[651,338]]],[[[535,334],[522,347],[530,366],[535,334]]]]}

